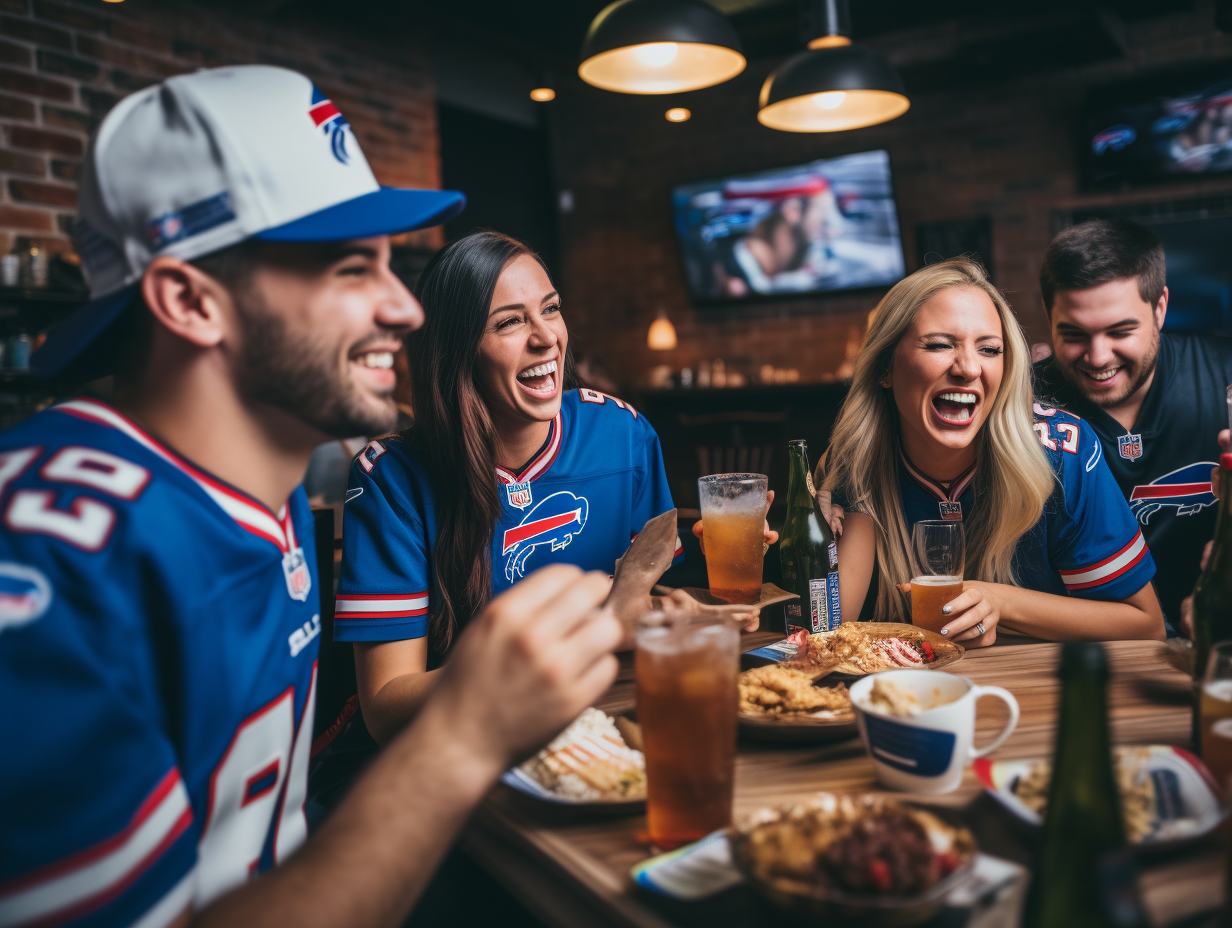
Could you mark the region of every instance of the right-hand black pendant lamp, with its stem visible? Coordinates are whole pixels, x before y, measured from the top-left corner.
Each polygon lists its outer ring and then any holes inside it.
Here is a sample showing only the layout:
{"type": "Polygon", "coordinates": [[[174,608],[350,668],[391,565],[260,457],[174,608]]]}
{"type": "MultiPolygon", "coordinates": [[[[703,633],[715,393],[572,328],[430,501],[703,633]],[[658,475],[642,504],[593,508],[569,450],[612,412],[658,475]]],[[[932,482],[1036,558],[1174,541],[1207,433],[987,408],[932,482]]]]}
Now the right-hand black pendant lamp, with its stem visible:
{"type": "Polygon", "coordinates": [[[881,55],[851,44],[848,0],[804,0],[808,51],[761,85],[758,122],[784,132],[841,132],[902,116],[903,81],[881,55]]]}

